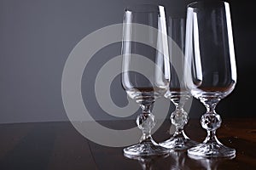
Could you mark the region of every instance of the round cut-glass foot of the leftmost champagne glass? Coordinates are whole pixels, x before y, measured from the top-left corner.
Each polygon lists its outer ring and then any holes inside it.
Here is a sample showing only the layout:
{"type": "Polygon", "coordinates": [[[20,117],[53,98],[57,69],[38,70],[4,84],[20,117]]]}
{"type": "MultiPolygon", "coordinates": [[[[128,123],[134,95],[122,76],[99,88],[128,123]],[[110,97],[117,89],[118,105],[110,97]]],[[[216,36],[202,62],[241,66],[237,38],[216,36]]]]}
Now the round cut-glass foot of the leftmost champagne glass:
{"type": "Polygon", "coordinates": [[[165,147],[154,143],[154,141],[143,141],[124,149],[125,156],[161,156],[170,153],[165,147]]]}

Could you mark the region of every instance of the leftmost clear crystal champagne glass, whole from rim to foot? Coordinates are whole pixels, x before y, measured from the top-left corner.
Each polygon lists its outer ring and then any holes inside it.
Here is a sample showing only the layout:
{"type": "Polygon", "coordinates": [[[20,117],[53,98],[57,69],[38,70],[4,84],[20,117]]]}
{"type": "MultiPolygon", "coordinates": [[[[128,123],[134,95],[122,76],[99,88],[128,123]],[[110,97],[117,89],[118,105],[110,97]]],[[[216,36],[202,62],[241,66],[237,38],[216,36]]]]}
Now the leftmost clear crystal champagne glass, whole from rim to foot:
{"type": "Polygon", "coordinates": [[[124,153],[126,156],[165,155],[170,150],[157,144],[151,136],[156,123],[152,114],[154,101],[163,97],[170,80],[165,8],[153,4],[125,8],[123,24],[122,85],[143,110],[137,116],[137,126],[143,135],[138,144],[126,147],[124,153]]]}

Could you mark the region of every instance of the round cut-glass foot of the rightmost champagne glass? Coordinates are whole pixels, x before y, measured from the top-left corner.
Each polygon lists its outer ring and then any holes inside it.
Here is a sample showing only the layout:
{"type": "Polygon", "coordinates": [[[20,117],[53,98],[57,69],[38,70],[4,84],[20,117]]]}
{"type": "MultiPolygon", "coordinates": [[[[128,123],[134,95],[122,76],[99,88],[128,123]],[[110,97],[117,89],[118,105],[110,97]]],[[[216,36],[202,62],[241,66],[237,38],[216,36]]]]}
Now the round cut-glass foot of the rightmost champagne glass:
{"type": "Polygon", "coordinates": [[[188,150],[189,157],[234,157],[236,156],[236,150],[224,146],[223,144],[198,144],[188,150]]]}

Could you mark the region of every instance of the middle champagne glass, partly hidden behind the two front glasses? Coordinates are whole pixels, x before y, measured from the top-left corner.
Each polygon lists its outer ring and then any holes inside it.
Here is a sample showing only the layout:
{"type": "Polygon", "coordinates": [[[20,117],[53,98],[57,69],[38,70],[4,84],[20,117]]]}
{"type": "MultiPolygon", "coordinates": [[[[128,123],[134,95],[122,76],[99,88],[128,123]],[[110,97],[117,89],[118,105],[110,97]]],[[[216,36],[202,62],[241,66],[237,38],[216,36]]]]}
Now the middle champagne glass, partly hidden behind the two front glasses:
{"type": "Polygon", "coordinates": [[[184,111],[183,106],[191,97],[183,80],[185,22],[185,18],[182,17],[169,17],[167,22],[168,36],[172,38],[172,41],[169,41],[169,55],[172,65],[170,66],[170,88],[165,97],[175,105],[175,111],[172,112],[170,119],[175,125],[176,131],[170,139],[161,142],[160,145],[172,150],[187,150],[198,144],[189,139],[183,130],[189,121],[188,113],[184,111]]]}

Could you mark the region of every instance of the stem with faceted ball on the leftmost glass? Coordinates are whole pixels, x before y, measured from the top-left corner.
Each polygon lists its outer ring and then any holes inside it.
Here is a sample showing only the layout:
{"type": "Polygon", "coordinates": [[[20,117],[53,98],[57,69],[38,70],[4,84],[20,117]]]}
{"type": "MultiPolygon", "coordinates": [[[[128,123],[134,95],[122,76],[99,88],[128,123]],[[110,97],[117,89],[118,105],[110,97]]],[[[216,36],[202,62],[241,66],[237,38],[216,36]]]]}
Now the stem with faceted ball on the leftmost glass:
{"type": "Polygon", "coordinates": [[[155,126],[155,118],[151,113],[153,103],[140,105],[143,113],[137,116],[137,126],[143,131],[140,143],[152,141],[151,130],[155,126]]]}

